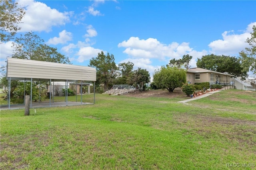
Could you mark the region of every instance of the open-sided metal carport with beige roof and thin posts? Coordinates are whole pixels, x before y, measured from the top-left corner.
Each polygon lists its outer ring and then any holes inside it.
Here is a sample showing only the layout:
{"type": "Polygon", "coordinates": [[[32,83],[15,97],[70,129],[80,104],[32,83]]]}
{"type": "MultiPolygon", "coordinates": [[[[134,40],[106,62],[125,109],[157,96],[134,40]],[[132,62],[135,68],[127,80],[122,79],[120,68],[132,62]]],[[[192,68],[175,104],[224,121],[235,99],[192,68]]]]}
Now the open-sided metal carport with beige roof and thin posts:
{"type": "MultiPolygon", "coordinates": [[[[67,91],[68,82],[75,82],[76,84],[80,84],[81,87],[85,84],[94,83],[94,102],[91,104],[95,103],[96,69],[92,67],[62,64],[62,63],[52,63],[52,62],[46,62],[46,61],[35,61],[35,60],[28,60],[28,59],[8,58],[6,78],[8,80],[8,98],[7,98],[8,109],[11,109],[10,91],[11,91],[12,80],[20,80],[24,82],[31,81],[30,107],[32,107],[33,81],[39,81],[39,82],[50,81],[50,102],[48,107],[51,107],[51,97],[52,97],[52,89],[54,89],[54,81],[66,82],[65,83],[66,93],[64,94],[66,105],[68,105],[68,91],[67,91]],[[86,83],[84,83],[84,81],[86,81],[86,83]],[[52,82],[53,82],[53,85],[52,85],[52,82]]],[[[24,90],[24,94],[25,94],[25,90],[24,90]]],[[[24,95],[24,98],[25,98],[25,95],[24,95]]],[[[83,103],[82,103],[82,93],[81,93],[81,105],[82,104],[83,103]]],[[[42,107],[46,107],[46,106],[42,105],[42,107]]]]}

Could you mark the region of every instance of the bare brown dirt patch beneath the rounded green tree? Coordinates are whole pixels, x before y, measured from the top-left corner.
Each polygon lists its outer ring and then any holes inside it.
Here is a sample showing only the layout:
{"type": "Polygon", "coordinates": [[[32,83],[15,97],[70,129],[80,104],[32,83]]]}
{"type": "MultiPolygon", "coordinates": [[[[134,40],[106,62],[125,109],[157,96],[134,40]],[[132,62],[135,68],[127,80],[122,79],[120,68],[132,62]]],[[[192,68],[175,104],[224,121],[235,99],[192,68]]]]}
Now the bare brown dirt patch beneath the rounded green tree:
{"type": "MultiPolygon", "coordinates": [[[[186,97],[185,93],[183,93],[180,89],[174,89],[172,93],[169,93],[168,90],[148,90],[143,92],[135,91],[133,93],[128,93],[126,96],[131,97],[138,97],[138,98],[146,98],[146,97],[168,97],[168,98],[174,98],[174,97],[186,97]]],[[[184,99],[185,100],[185,99],[184,99]]]]}

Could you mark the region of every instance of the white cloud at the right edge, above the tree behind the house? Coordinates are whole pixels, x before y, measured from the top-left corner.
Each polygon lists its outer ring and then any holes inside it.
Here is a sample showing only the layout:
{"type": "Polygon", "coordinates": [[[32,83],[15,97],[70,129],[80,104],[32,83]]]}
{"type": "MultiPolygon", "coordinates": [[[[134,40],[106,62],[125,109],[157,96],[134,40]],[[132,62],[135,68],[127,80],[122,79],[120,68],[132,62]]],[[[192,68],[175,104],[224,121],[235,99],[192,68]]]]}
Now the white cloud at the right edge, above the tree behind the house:
{"type": "Polygon", "coordinates": [[[211,48],[210,52],[216,55],[238,54],[248,47],[248,43],[245,41],[251,37],[250,32],[252,32],[253,25],[256,25],[256,22],[249,24],[242,34],[235,34],[233,30],[223,32],[222,40],[215,40],[208,45],[211,48]]]}

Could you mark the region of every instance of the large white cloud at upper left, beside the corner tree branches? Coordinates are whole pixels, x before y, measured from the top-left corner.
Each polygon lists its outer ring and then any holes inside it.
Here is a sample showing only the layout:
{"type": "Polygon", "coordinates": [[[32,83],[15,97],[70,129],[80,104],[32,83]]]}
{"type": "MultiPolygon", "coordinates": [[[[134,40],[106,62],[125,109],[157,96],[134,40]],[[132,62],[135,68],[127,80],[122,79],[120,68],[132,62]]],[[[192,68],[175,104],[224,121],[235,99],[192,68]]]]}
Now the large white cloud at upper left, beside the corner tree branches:
{"type": "Polygon", "coordinates": [[[42,2],[19,0],[18,3],[20,6],[24,6],[26,11],[21,21],[23,23],[20,24],[21,30],[18,32],[50,32],[53,26],[65,25],[66,22],[69,22],[68,12],[59,12],[42,2]]]}

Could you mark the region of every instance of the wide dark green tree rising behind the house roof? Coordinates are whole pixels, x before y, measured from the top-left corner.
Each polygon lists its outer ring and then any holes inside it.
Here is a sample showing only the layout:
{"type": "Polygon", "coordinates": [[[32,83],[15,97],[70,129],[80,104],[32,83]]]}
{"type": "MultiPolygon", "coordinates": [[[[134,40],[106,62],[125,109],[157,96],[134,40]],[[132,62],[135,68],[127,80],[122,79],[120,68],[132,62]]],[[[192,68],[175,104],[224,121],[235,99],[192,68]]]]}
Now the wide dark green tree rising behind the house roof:
{"type": "Polygon", "coordinates": [[[201,59],[197,59],[196,66],[202,69],[217,71],[220,73],[227,72],[235,75],[235,77],[247,77],[243,71],[240,59],[226,55],[204,55],[201,59]]]}

